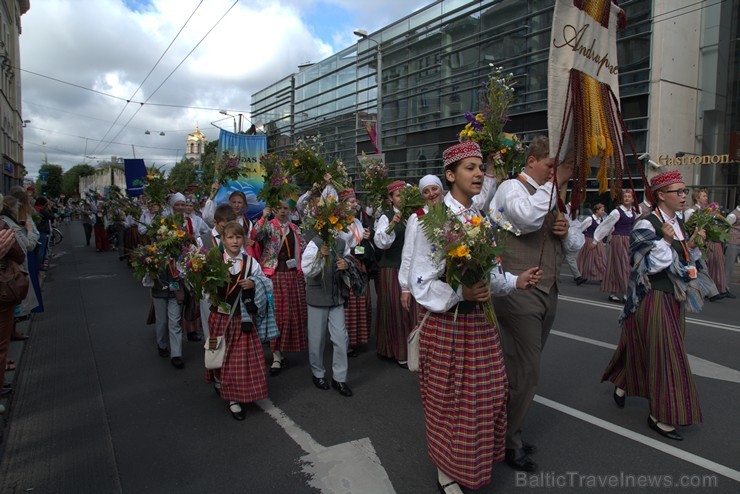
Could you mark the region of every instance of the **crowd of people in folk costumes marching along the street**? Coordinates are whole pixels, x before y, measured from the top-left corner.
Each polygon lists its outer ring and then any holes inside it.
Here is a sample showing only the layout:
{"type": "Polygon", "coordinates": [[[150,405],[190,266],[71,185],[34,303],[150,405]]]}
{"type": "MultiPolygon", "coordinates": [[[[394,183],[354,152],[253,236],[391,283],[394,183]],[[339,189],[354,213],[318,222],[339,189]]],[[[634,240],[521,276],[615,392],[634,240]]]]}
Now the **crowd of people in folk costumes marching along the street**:
{"type": "MultiPolygon", "coordinates": [[[[455,493],[490,482],[496,462],[520,471],[538,468],[532,459],[537,448],[523,431],[566,260],[576,284],[600,282],[610,301],[624,304],[622,336],[603,374],[614,385],[616,404],[623,407],[628,396],[646,398],[649,427],[674,440],[682,439],[675,426],[702,419],[684,345],[685,313],[700,307],[704,297],[734,298],[727,273],[740,243],[740,209],[727,216],[732,225],[727,259],[722,245],[710,246],[703,263],[698,245],[706,234],[686,229],[692,208],[686,206],[688,191],[679,172],[653,177],[654,205],[647,198],[637,205],[634,192],[623,190],[613,211],[598,203],[586,217],[571,219],[558,210],[556,191],[567,189],[573,154],[554,166],[549,141],[539,136],[529,144],[518,177],[497,183],[478,145],[463,142],[443,153],[444,184],[438,175],[418,182],[426,206],[408,218],[401,212],[407,184],[397,180],[388,184],[386,205],[377,211],[362,207],[354,190],[337,194],[327,182],[297,201],[283,198],[257,218],[246,215],[246,197],[239,191],[227,203],[208,199],[202,207],[194,195],[177,192],[168,207],[145,205],[140,217],[122,218],[113,230],[105,214],[110,208],[93,198],[82,205],[83,225],[88,245],[94,233],[96,250],[110,249],[112,232],[121,258],[130,259],[135,247],[147,242],[149,226],[176,213],[193,242],[219,249],[216,262],[229,271],[218,289],[221,302],[183,296],[184,280],[176,260],[168,258],[156,279],[147,280],[150,322],[158,355],[176,369],[186,363],[183,334],[206,341],[207,347],[223,342],[223,362],[207,369],[205,380],[236,420],[244,420],[245,404],[267,397],[268,375],[285,371],[291,354],[307,351],[316,388],[351,397],[349,365],[368,350],[370,335],[378,357],[407,368],[407,338],[420,327],[418,375],[429,456],[439,489],[455,493]],[[336,194],[353,211],[352,223],[331,247],[304,224],[306,205],[327,194],[336,194]],[[477,226],[483,218],[495,218],[516,232],[508,236],[498,266],[475,283],[453,281],[424,228],[425,215],[440,207],[459,224],[477,226]],[[374,317],[370,287],[377,294],[374,317]],[[486,313],[491,303],[495,321],[486,313]],[[269,343],[256,331],[262,324],[278,330],[269,343]],[[333,346],[330,372],[324,363],[327,334],[333,346]]],[[[214,184],[214,190],[218,187],[214,184]]],[[[42,245],[43,234],[29,224],[31,203],[21,192],[20,204],[12,200],[16,195],[5,199],[2,220],[30,252],[42,245]]],[[[694,201],[694,210],[705,207],[706,191],[696,191],[694,201]]],[[[6,243],[0,235],[3,251],[6,243]]],[[[36,262],[35,256],[25,259],[32,257],[36,262]]],[[[32,294],[40,304],[40,293],[32,294]]],[[[0,363],[6,350],[3,339],[0,363]]]]}

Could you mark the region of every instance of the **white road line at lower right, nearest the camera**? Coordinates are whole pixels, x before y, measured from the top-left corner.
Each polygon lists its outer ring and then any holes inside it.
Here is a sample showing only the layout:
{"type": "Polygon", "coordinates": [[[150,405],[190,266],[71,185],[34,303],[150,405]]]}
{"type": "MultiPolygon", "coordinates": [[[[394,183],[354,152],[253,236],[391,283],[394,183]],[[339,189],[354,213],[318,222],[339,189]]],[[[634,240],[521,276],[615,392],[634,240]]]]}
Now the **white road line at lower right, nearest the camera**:
{"type": "Polygon", "coordinates": [[[695,455],[693,453],[689,453],[682,449],[676,448],[675,446],[671,446],[670,444],[666,444],[664,442],[658,441],[657,439],[643,436],[642,434],[638,434],[637,432],[634,432],[630,429],[626,429],[622,426],[612,424],[611,422],[607,422],[606,420],[602,420],[593,415],[589,415],[580,410],[576,410],[575,408],[571,408],[567,405],[563,405],[562,403],[558,403],[556,401],[543,398],[542,396],[535,395],[534,401],[536,401],[540,405],[550,407],[559,412],[563,412],[566,415],[570,415],[571,417],[575,417],[579,420],[583,420],[584,422],[588,422],[589,424],[595,425],[596,427],[601,427],[602,429],[605,429],[609,432],[613,432],[620,436],[626,437],[627,439],[631,439],[635,442],[644,444],[645,446],[648,446],[650,448],[657,449],[658,451],[662,453],[669,454],[680,460],[693,463],[694,465],[697,465],[701,468],[705,468],[711,472],[725,476],[736,482],[740,482],[740,472],[737,470],[733,470],[732,468],[727,467],[725,465],[721,465],[712,460],[708,460],[706,458],[695,455]]]}

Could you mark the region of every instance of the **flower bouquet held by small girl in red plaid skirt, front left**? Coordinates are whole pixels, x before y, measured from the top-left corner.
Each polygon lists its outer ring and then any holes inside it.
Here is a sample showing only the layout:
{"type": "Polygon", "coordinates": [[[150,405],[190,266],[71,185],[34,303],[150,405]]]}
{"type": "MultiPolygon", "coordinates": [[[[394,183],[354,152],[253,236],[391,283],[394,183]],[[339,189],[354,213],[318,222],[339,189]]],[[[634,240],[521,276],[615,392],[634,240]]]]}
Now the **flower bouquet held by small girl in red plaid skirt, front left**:
{"type": "Polygon", "coordinates": [[[218,289],[230,281],[231,275],[229,265],[223,262],[223,254],[217,247],[207,250],[190,244],[183,249],[178,268],[198,301],[207,295],[214,305],[222,302],[218,289]]]}

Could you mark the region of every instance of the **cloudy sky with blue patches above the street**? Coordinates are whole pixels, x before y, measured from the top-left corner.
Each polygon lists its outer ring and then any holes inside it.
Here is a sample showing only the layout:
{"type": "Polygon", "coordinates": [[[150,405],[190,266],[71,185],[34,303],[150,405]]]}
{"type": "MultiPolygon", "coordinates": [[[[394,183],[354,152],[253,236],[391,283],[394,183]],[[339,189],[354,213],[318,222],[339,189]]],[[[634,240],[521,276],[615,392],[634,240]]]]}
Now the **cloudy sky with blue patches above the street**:
{"type": "Polygon", "coordinates": [[[208,140],[233,130],[219,110],[248,118],[254,92],[432,0],[30,2],[19,43],[33,179],[45,159],[67,170],[135,156],[169,169],[196,126],[208,140]]]}

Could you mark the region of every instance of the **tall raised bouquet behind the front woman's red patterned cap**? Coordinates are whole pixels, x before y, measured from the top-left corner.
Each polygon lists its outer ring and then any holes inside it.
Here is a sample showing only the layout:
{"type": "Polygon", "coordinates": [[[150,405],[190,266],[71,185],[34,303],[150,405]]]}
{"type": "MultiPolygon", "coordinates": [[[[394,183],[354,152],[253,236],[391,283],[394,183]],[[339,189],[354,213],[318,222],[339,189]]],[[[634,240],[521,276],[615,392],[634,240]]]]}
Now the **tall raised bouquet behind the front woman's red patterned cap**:
{"type": "Polygon", "coordinates": [[[524,145],[514,134],[504,133],[509,121],[507,112],[514,102],[514,75],[494,67],[479,91],[481,110],[465,113],[467,124],[458,134],[460,142],[474,141],[481,147],[486,164],[499,180],[519,172],[524,166],[524,145]]]}

